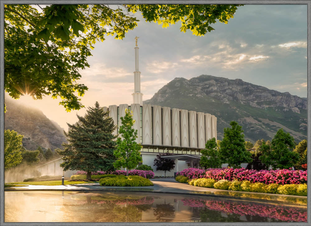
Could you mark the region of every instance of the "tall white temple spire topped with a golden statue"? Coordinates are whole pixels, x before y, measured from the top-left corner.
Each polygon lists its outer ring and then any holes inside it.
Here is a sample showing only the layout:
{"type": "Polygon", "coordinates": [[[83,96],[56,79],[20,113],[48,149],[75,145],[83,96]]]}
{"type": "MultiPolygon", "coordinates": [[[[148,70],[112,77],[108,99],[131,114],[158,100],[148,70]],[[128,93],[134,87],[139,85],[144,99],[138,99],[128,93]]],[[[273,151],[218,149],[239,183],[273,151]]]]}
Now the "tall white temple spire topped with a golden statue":
{"type": "Polygon", "coordinates": [[[139,71],[139,63],[138,63],[138,46],[137,40],[139,37],[135,37],[135,71],[134,71],[134,93],[133,96],[133,103],[139,103],[142,105],[142,93],[140,92],[140,71],[139,71]]]}

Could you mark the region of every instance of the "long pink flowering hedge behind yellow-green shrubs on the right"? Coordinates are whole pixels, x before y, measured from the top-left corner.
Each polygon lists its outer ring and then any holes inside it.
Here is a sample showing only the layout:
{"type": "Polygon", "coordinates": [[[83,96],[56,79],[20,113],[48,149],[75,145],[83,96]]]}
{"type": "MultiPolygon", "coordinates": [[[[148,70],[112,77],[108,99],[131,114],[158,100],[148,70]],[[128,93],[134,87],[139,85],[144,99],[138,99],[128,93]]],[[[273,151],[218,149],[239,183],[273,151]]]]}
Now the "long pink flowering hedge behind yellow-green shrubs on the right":
{"type": "Polygon", "coordinates": [[[184,169],[177,175],[186,176],[189,179],[210,178],[218,180],[249,180],[252,183],[261,182],[264,184],[306,184],[307,171],[302,170],[247,170],[245,168],[233,169],[208,169],[200,170],[195,168],[184,169]]]}

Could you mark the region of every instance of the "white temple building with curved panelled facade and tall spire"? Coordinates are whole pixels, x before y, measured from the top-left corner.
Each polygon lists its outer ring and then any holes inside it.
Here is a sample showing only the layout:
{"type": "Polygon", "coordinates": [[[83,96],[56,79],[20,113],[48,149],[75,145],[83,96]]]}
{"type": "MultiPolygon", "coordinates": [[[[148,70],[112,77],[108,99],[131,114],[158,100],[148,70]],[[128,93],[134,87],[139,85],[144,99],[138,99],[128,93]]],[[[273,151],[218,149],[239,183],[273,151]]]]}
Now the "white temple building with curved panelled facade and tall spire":
{"type": "MultiPolygon", "coordinates": [[[[121,124],[120,117],[125,115],[125,109],[133,112],[134,128],[137,129],[137,143],[142,144],[142,164],[153,168],[156,176],[164,175],[163,171],[156,171],[153,161],[159,153],[169,152],[169,158],[175,159],[176,166],[167,176],[174,176],[174,172],[188,167],[198,167],[200,150],[204,149],[207,140],[217,139],[217,118],[203,112],[188,111],[178,108],[162,107],[158,105],[142,104],[140,90],[140,74],[138,63],[137,37],[135,46],[134,93],[132,104],[110,105],[103,107],[109,111],[109,117],[116,125],[121,124]]],[[[114,131],[118,134],[118,128],[114,131]]],[[[51,162],[50,164],[54,164],[51,162]]],[[[45,164],[46,165],[46,164],[45,164]]],[[[39,169],[47,166],[39,166],[39,169]]],[[[59,164],[58,164],[59,165],[59,164]]],[[[44,175],[44,172],[41,171],[44,175]]],[[[70,174],[67,172],[66,174],[70,174]]]]}

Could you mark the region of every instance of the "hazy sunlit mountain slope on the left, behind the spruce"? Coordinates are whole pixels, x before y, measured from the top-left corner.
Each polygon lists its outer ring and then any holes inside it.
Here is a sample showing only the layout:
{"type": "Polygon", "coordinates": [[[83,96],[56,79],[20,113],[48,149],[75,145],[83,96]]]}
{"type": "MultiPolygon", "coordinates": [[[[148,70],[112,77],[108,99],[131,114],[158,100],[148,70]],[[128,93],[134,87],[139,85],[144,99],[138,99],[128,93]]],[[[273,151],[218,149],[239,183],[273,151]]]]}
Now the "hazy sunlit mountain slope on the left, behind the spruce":
{"type": "Polygon", "coordinates": [[[63,148],[66,137],[56,122],[48,119],[39,109],[27,107],[6,98],[7,112],[4,114],[5,129],[15,130],[23,138],[23,147],[35,150],[38,146],[43,149],[63,148]]]}

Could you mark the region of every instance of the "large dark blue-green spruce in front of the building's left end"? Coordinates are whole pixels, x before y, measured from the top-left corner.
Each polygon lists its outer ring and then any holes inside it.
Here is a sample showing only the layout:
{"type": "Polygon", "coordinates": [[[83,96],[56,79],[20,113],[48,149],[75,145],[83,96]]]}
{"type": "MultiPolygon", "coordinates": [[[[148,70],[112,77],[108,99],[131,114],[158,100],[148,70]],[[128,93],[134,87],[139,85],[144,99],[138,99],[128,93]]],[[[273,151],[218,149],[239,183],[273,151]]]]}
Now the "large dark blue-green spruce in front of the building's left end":
{"type": "Polygon", "coordinates": [[[91,172],[114,170],[113,151],[115,137],[112,133],[116,126],[109,112],[104,112],[96,101],[95,107],[89,107],[84,117],[78,116],[79,123],[70,125],[64,132],[68,143],[63,143],[64,150],[57,149],[63,156],[60,164],[64,171],[83,170],[87,172],[86,179],[91,179],[91,172]]]}

